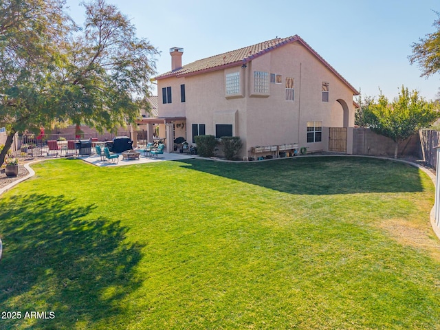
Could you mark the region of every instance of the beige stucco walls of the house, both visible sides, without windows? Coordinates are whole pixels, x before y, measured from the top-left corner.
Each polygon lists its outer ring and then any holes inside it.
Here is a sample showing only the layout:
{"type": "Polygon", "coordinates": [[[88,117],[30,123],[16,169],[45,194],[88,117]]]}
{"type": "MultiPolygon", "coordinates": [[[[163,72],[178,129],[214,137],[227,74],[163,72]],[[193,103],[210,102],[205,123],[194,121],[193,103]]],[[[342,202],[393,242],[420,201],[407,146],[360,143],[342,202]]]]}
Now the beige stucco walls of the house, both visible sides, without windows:
{"type": "MultiPolygon", "coordinates": [[[[252,146],[298,143],[308,151],[328,149],[322,142],[307,143],[307,122],[323,127],[354,126],[353,90],[299,43],[288,44],[254,58],[246,67],[230,67],[186,78],[159,80],[159,117],[186,116],[187,139],[192,124],[205,124],[215,135],[215,124],[232,124],[243,140],[241,156],[252,146]],[[270,83],[269,94],[254,93],[254,71],[281,74],[281,84],[270,83]],[[240,72],[241,92],[225,95],[225,74],[240,72]],[[285,78],[294,78],[295,99],[285,100],[285,78]],[[322,102],[322,83],[329,83],[329,102],[322,102]],[[186,102],[180,103],[180,85],[186,85],[186,102]],[[173,103],[162,104],[162,87],[173,87],[173,103]],[[342,102],[338,102],[342,100],[342,102]],[[344,109],[346,107],[345,120],[344,109]]],[[[350,143],[350,142],[349,142],[350,143]]]]}

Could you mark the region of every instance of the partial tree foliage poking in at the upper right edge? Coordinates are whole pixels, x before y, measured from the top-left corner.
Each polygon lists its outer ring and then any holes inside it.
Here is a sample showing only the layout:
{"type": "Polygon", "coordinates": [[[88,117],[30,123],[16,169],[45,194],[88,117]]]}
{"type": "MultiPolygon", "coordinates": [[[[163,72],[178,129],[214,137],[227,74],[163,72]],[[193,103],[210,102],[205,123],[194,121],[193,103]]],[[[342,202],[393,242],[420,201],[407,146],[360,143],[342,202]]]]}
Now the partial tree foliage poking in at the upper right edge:
{"type": "Polygon", "coordinates": [[[410,63],[418,63],[423,70],[421,76],[431,76],[440,72],[440,12],[435,12],[439,19],[432,26],[436,32],[426,34],[425,39],[419,39],[419,43],[412,43],[412,55],[408,56],[410,63]]]}

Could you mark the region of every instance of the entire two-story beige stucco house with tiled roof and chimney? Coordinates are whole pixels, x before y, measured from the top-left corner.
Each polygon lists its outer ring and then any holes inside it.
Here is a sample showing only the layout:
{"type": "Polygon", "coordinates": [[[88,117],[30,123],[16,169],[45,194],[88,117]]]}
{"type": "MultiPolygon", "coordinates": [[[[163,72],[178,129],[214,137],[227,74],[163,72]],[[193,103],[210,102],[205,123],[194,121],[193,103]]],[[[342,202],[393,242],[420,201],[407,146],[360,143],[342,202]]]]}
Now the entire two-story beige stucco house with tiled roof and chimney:
{"type": "MultiPolygon", "coordinates": [[[[358,91],[299,36],[183,66],[182,54],[171,48],[171,71],[156,77],[154,121],[165,124],[159,135],[168,151],[176,137],[194,143],[203,134],[241,137],[242,157],[255,146],[294,143],[307,152],[327,151],[330,127],[354,126],[358,91]]],[[[347,136],[345,152],[352,144],[347,136]]]]}

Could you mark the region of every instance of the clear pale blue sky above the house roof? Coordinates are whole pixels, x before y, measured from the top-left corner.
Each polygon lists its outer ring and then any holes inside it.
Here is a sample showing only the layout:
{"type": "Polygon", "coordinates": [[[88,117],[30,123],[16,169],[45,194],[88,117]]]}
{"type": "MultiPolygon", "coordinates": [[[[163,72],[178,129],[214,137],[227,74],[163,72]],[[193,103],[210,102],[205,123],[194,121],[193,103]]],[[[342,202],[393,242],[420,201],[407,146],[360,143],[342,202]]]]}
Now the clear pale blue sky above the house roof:
{"type": "MultiPolygon", "coordinates": [[[[364,96],[379,88],[392,99],[401,85],[434,99],[440,74],[421,78],[410,65],[411,44],[435,31],[438,0],[107,0],[118,6],[161,52],[159,74],[171,66],[170,47],[184,48],[182,62],[298,34],[364,96]]],[[[72,18],[84,21],[80,0],[67,0],[72,18]]]]}

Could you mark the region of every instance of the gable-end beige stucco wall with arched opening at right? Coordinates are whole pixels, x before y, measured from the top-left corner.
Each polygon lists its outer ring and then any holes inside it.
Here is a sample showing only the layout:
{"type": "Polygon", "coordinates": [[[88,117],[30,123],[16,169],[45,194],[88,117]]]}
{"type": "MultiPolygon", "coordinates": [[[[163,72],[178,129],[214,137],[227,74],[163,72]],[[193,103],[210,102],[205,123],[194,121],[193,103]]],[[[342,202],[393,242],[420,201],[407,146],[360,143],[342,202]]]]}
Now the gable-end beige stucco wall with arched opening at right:
{"type": "Polygon", "coordinates": [[[256,58],[248,67],[251,81],[254,70],[283,77],[281,84],[270,84],[268,98],[251,96],[248,99],[248,149],[298,143],[308,151],[327,150],[327,135],[323,134],[322,142],[307,143],[307,122],[321,121],[322,126],[327,127],[344,126],[344,111],[338,100],[346,102],[348,126],[354,126],[353,91],[302,45],[285,45],[256,58]],[[294,101],[285,100],[285,77],[294,78],[294,101]],[[322,102],[322,82],[329,83],[329,102],[322,102]]]}

